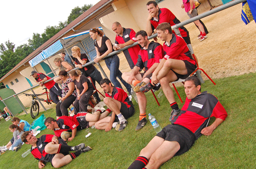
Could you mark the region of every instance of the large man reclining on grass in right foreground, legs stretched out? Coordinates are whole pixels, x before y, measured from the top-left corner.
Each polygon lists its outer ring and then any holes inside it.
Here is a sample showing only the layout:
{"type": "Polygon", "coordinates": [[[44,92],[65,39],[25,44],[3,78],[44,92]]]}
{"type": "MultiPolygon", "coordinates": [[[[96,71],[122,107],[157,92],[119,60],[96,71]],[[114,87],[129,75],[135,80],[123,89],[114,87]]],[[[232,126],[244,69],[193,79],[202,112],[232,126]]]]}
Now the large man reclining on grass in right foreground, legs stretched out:
{"type": "Polygon", "coordinates": [[[186,78],[184,88],[187,98],[181,113],[141,150],[129,169],[159,168],[170,158],[188,151],[201,134],[211,135],[226,119],[227,112],[219,100],[207,91],[201,93],[201,82],[196,76],[186,78]],[[207,127],[211,117],[216,119],[207,127]]]}

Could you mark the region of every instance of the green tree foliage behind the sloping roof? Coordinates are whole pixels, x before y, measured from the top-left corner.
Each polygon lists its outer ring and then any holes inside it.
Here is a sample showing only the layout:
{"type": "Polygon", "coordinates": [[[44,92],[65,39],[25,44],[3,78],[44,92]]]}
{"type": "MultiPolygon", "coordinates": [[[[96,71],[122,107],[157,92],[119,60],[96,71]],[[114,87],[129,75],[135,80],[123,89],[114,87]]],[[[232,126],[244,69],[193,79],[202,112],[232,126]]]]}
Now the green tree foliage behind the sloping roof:
{"type": "Polygon", "coordinates": [[[32,39],[28,40],[28,44],[23,44],[15,48],[15,44],[9,40],[0,44],[0,78],[14,68],[20,61],[25,59],[30,53],[47,42],[50,38],[56,35],[67,24],[71,23],[83,12],[87,11],[93,5],[84,5],[83,7],[75,7],[72,9],[68,20],[59,22],[56,26],[47,26],[45,32],[41,35],[33,33],[32,39]]]}

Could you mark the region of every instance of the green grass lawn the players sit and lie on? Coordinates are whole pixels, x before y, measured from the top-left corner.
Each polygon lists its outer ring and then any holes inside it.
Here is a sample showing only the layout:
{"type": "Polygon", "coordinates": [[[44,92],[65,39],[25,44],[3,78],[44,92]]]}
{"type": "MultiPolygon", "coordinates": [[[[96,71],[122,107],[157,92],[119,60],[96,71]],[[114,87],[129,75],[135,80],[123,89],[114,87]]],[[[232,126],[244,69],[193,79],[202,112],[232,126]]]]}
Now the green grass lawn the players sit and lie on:
{"type": "MultiPolygon", "coordinates": [[[[214,86],[209,80],[202,85],[202,91],[214,94],[225,107],[228,117],[210,136],[201,136],[195,145],[183,155],[174,157],[160,168],[256,168],[255,154],[255,110],[256,92],[254,87],[256,73],[215,79],[214,86]]],[[[181,98],[185,101],[183,87],[177,88],[181,98]]],[[[156,96],[160,91],[156,92],[156,96]]],[[[169,124],[170,107],[161,96],[158,106],[151,93],[147,93],[147,114],[153,114],[163,128],[169,124]]],[[[182,103],[175,94],[180,107],[182,103]]],[[[127,168],[139,155],[140,150],[156,134],[150,123],[140,131],[135,131],[138,123],[139,108],[135,104],[135,115],[128,120],[128,125],[122,132],[112,129],[110,132],[90,129],[92,135],[85,137],[85,130],[78,131],[71,146],[86,143],[93,148],[83,153],[70,164],[62,168],[127,168]]],[[[46,117],[55,117],[55,109],[43,112],[46,117]]],[[[42,112],[39,114],[41,115],[42,112]]],[[[18,116],[20,119],[32,123],[30,115],[18,116]]],[[[211,123],[214,119],[211,119],[211,123]]],[[[11,121],[0,121],[0,145],[5,145],[12,137],[8,126],[11,121]]],[[[45,129],[41,134],[53,134],[45,129]]],[[[18,152],[7,151],[1,155],[0,168],[37,168],[37,160],[32,154],[22,158],[22,154],[30,149],[23,145],[18,152]]],[[[45,168],[52,168],[47,163],[45,168]]]]}

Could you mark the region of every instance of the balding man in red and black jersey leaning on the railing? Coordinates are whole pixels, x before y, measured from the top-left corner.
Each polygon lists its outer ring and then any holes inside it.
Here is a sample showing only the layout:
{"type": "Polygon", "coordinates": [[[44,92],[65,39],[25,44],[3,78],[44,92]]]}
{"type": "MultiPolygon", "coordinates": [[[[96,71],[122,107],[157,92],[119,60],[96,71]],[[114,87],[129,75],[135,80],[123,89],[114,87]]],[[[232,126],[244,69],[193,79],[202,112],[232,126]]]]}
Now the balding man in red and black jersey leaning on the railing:
{"type": "MultiPolygon", "coordinates": [[[[125,46],[132,45],[134,44],[134,42],[136,42],[135,32],[133,29],[124,28],[119,22],[114,22],[112,24],[112,30],[116,33],[115,44],[117,45],[113,46],[114,50],[119,50],[121,48],[124,48],[125,46]]],[[[133,47],[123,50],[123,54],[131,69],[133,69],[137,63],[139,51],[139,45],[135,45],[133,47]]]]}

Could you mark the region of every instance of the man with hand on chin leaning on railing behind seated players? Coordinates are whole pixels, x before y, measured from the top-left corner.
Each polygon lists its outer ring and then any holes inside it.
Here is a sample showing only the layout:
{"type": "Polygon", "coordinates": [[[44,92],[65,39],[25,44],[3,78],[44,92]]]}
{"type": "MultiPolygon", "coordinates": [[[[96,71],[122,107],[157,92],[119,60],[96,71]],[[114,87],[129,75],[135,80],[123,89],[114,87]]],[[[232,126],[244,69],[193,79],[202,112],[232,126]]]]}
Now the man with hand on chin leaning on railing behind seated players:
{"type": "MultiPolygon", "coordinates": [[[[180,20],[176,18],[176,16],[170,12],[167,8],[159,8],[155,1],[149,1],[146,4],[147,11],[150,13],[147,17],[146,23],[146,33],[148,36],[154,33],[154,30],[157,26],[163,22],[167,22],[170,26],[180,23],[180,20]]],[[[180,34],[182,38],[185,40],[187,44],[190,44],[190,38],[187,29],[182,26],[179,27],[180,34]]],[[[175,34],[175,32],[173,31],[175,34]]],[[[155,38],[157,41],[157,38],[155,38]]]]}

